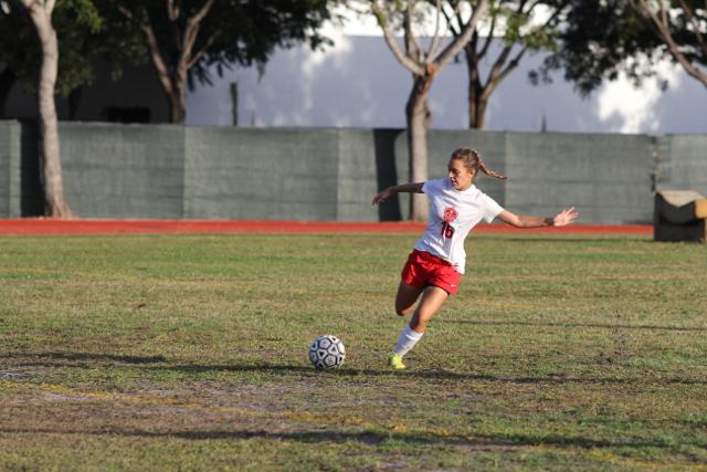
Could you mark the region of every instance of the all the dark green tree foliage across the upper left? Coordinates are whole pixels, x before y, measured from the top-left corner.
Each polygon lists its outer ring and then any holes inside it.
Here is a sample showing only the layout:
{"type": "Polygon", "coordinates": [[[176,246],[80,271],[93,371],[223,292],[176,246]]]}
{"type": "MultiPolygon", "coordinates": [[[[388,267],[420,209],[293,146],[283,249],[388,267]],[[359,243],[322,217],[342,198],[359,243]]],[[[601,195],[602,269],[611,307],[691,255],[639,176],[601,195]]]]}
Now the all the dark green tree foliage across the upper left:
{"type": "MultiPolygon", "coordinates": [[[[21,82],[34,88],[41,66],[36,34],[17,0],[3,2],[0,63],[6,63],[21,82]]],[[[183,45],[180,34],[190,15],[204,2],[178,3],[180,15],[170,22],[163,1],[59,1],[52,18],[60,46],[57,91],[67,96],[76,87],[91,83],[99,61],[109,65],[114,80],[119,78],[126,64],[149,61],[143,31],[126,19],[118,7],[131,9],[149,20],[160,51],[173,65],[183,45]]],[[[200,25],[194,51],[204,50],[204,54],[193,64],[189,78],[210,82],[211,66],[215,66],[219,74],[233,64],[255,63],[262,70],[275,48],[289,48],[299,41],[307,41],[312,48],[327,44],[318,27],[330,18],[330,3],[326,0],[215,2],[200,25]]]]}

